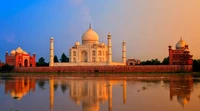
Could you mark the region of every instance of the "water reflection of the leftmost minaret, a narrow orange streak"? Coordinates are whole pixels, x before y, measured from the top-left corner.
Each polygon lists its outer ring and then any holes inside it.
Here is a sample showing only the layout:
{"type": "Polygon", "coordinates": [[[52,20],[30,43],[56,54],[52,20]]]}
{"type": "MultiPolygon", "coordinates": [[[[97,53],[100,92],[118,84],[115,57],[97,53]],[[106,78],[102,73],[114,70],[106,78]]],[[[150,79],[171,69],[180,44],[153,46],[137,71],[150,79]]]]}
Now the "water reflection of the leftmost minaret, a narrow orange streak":
{"type": "Polygon", "coordinates": [[[54,107],[54,78],[49,79],[49,92],[50,92],[50,110],[54,107]]]}

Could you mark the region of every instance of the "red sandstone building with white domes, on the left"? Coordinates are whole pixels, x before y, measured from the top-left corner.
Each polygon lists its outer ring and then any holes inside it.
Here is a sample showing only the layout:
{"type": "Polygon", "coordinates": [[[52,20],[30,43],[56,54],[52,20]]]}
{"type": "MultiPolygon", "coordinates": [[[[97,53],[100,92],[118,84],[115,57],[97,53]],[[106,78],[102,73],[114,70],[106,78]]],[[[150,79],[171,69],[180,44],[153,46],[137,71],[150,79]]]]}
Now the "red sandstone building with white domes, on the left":
{"type": "Polygon", "coordinates": [[[30,56],[27,52],[18,47],[16,50],[12,50],[10,55],[6,52],[5,57],[6,64],[15,67],[35,67],[36,66],[36,54],[30,56]]]}

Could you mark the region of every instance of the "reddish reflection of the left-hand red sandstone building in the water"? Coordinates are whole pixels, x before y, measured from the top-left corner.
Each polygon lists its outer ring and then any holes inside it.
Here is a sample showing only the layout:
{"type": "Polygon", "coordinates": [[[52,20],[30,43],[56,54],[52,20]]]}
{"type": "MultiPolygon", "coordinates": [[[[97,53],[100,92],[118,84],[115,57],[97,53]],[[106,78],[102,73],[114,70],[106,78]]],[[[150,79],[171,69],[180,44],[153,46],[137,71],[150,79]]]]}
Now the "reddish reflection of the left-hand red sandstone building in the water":
{"type": "Polygon", "coordinates": [[[5,81],[5,94],[10,93],[13,99],[20,100],[31,90],[35,91],[35,79],[20,77],[5,81]]]}

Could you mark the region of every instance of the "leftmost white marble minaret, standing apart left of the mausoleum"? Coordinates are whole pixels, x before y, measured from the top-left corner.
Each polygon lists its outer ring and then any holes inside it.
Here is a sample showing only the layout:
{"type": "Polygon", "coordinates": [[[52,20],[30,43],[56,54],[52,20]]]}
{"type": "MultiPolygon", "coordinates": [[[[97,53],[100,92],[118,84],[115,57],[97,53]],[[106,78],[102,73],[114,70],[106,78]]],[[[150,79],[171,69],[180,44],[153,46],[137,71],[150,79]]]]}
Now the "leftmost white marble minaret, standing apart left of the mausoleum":
{"type": "Polygon", "coordinates": [[[54,66],[54,39],[53,37],[50,38],[50,60],[49,66],[54,66]]]}

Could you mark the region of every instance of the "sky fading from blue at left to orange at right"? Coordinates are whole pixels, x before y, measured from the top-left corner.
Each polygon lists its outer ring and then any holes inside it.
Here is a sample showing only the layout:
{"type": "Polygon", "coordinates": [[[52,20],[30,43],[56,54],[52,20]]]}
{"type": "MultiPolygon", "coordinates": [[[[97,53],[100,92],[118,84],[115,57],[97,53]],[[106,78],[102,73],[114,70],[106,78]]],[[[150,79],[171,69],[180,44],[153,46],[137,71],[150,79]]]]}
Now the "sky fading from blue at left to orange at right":
{"type": "Polygon", "coordinates": [[[55,55],[68,56],[89,23],[100,42],[112,34],[114,61],[121,61],[123,40],[127,58],[162,61],[181,37],[200,59],[200,0],[1,0],[0,60],[20,46],[48,62],[51,36],[55,55]]]}

